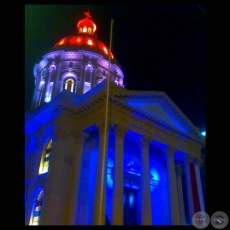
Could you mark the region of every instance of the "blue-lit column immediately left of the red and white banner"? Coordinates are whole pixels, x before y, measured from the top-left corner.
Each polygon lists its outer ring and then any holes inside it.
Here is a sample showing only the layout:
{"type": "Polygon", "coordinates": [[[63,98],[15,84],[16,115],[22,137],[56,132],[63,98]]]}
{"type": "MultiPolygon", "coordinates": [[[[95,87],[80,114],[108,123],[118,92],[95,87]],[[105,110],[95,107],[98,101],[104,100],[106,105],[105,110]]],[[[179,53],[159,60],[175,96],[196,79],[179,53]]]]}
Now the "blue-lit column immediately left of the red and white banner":
{"type": "Polygon", "coordinates": [[[186,190],[188,197],[188,214],[189,214],[189,224],[193,225],[192,217],[194,215],[194,205],[193,205],[193,197],[192,197],[192,185],[191,185],[191,175],[190,175],[190,157],[188,154],[183,156],[184,161],[184,172],[185,172],[185,181],[186,181],[186,190]]]}

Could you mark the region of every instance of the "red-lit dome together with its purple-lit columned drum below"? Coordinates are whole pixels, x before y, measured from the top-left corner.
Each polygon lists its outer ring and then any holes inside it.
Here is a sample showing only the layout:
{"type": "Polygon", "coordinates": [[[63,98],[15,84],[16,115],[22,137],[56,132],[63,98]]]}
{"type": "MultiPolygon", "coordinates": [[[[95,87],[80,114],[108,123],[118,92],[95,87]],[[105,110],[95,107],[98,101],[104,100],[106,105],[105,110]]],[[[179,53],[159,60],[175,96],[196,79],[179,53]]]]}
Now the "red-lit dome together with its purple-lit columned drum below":
{"type": "Polygon", "coordinates": [[[77,35],[62,38],[40,63],[35,64],[31,109],[49,102],[64,90],[82,95],[108,76],[115,84],[124,87],[124,74],[119,63],[109,48],[97,39],[97,26],[90,19],[89,12],[84,14],[86,18],[76,25],[77,35]]]}

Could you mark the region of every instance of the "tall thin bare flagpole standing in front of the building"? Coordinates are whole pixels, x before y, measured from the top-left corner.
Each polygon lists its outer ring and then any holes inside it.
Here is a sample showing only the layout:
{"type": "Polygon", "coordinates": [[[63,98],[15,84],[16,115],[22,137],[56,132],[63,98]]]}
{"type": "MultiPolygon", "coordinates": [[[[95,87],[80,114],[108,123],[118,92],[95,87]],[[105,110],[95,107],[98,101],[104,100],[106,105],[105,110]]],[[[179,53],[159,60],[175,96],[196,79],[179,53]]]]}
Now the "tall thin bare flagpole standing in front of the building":
{"type": "MultiPolygon", "coordinates": [[[[104,129],[104,143],[103,143],[103,158],[102,158],[102,172],[101,172],[101,197],[100,197],[100,208],[99,208],[99,225],[105,225],[102,221],[104,220],[106,213],[103,212],[103,200],[106,201],[106,170],[107,170],[107,158],[108,158],[108,110],[109,110],[109,88],[110,88],[110,62],[111,62],[111,49],[112,49],[112,36],[113,36],[113,22],[111,19],[111,27],[110,27],[110,44],[109,44],[109,67],[108,67],[108,77],[107,77],[107,88],[106,88],[106,104],[105,104],[105,129],[104,129]]],[[[106,202],[105,202],[106,204],[106,202]]],[[[105,207],[106,209],[106,207],[105,207]]]]}

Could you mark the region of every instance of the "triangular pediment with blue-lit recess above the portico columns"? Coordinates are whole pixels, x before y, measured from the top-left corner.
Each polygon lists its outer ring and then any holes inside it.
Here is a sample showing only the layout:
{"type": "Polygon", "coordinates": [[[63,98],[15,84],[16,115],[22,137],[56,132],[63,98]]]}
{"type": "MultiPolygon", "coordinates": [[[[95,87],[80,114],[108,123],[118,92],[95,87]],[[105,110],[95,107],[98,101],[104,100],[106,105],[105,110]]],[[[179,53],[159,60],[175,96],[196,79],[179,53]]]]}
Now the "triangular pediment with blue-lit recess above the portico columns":
{"type": "Polygon", "coordinates": [[[111,94],[128,106],[172,128],[200,136],[199,129],[163,91],[133,91],[112,84],[111,94]]]}

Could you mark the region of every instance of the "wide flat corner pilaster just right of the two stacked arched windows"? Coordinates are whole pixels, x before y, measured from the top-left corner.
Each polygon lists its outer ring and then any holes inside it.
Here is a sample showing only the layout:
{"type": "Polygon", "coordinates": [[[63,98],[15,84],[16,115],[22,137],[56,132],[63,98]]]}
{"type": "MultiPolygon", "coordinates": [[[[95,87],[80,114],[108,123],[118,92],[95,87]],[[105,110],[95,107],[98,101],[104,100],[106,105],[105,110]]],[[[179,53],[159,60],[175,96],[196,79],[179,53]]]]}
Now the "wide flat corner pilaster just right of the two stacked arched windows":
{"type": "Polygon", "coordinates": [[[68,178],[72,166],[71,145],[74,144],[74,138],[70,133],[70,130],[63,124],[63,126],[56,127],[52,138],[47,187],[44,189],[40,225],[66,224],[68,178]]]}

